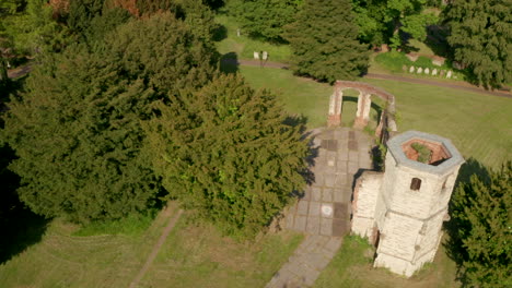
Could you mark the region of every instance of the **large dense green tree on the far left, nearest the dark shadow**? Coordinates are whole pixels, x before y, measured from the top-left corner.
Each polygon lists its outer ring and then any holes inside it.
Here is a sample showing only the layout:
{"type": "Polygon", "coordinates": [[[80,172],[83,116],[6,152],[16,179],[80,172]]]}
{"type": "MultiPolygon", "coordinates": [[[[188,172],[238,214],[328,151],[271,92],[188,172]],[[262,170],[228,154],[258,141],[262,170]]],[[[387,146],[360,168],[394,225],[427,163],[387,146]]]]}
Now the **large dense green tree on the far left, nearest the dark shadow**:
{"type": "Polygon", "coordinates": [[[138,122],[153,92],[124,80],[104,57],[70,47],[55,63],[45,59],[9,105],[4,132],[19,156],[11,169],[22,178],[20,199],[37,214],[119,218],[143,211],[159,191],[139,152],[138,122]]]}

